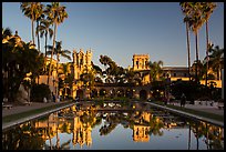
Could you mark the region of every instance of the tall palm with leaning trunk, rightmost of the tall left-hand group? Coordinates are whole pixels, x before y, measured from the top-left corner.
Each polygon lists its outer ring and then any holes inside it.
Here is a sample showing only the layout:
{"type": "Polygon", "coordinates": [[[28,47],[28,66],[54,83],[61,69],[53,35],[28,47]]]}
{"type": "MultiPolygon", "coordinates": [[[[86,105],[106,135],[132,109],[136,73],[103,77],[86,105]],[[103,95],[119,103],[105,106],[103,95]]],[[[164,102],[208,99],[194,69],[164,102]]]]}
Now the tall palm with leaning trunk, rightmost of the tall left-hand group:
{"type": "Polygon", "coordinates": [[[48,16],[48,19],[51,20],[54,24],[54,32],[53,32],[53,48],[51,53],[51,60],[50,60],[50,70],[48,74],[48,84],[49,84],[49,78],[51,74],[51,64],[52,64],[52,58],[53,52],[55,48],[55,37],[56,37],[56,29],[60,23],[64,21],[65,18],[68,18],[68,13],[65,11],[65,7],[61,7],[60,2],[52,2],[52,4],[47,6],[47,10],[44,10],[44,13],[48,16]]]}

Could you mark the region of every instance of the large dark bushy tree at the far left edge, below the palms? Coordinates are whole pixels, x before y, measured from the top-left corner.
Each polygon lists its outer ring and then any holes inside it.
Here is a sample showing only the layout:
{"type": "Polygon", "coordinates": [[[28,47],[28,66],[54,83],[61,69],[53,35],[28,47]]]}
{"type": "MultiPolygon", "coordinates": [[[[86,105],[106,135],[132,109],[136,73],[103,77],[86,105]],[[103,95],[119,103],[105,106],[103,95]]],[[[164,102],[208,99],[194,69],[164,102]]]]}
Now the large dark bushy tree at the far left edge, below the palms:
{"type": "Polygon", "coordinates": [[[43,68],[43,58],[34,49],[32,43],[25,43],[20,40],[19,36],[9,38],[2,43],[2,65],[4,73],[7,73],[7,93],[9,100],[14,101],[16,94],[27,73],[32,73],[31,78],[35,75],[43,68]]]}

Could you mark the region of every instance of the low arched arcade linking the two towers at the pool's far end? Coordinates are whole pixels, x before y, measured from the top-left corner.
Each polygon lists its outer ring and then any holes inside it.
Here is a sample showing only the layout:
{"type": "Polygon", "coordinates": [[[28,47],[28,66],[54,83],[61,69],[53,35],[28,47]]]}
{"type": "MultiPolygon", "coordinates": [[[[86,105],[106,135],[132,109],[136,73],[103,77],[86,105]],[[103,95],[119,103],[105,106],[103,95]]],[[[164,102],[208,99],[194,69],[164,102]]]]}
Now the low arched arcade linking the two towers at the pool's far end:
{"type": "Polygon", "coordinates": [[[76,91],[76,95],[81,99],[84,98],[122,98],[127,97],[131,99],[148,99],[151,98],[151,85],[132,85],[132,84],[97,84],[94,89],[80,89],[76,91]]]}

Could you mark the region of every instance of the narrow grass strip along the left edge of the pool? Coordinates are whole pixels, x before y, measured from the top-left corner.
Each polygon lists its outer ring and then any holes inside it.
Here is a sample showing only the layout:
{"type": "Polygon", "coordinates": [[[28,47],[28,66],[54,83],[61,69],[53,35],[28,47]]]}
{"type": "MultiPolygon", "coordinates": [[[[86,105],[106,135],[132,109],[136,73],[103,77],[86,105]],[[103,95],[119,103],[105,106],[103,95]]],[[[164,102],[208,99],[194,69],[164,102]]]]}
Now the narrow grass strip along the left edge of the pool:
{"type": "Polygon", "coordinates": [[[45,111],[50,111],[50,110],[53,110],[53,109],[56,109],[56,108],[64,107],[64,105],[70,104],[70,103],[72,103],[72,102],[65,102],[65,103],[61,103],[61,104],[49,105],[49,107],[45,107],[45,108],[33,109],[33,110],[30,110],[30,111],[7,115],[7,116],[2,118],[2,123],[16,121],[16,120],[19,120],[19,119],[22,119],[22,118],[27,118],[28,115],[39,114],[39,113],[42,113],[42,112],[45,112],[45,111]]]}

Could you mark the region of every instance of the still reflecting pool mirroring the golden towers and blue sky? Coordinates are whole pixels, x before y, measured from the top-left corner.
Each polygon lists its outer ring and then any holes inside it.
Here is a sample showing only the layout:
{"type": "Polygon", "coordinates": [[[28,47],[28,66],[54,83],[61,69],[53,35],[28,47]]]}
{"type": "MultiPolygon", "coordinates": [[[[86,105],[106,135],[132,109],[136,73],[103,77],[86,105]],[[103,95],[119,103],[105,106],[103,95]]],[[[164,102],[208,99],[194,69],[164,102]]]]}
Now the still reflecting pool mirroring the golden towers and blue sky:
{"type": "Polygon", "coordinates": [[[82,103],[2,132],[3,150],[224,150],[224,128],[145,103],[82,103]]]}

